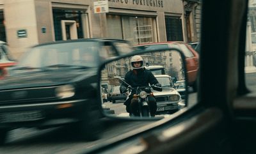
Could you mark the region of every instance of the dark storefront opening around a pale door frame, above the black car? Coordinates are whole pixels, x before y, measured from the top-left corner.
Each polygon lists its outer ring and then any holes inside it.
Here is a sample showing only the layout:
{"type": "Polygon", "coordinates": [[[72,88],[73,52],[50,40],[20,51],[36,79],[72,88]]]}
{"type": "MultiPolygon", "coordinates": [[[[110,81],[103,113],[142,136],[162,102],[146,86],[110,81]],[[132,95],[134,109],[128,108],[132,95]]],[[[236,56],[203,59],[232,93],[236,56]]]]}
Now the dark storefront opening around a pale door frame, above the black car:
{"type": "MultiPolygon", "coordinates": [[[[85,12],[83,11],[75,11],[75,10],[60,10],[54,9],[52,10],[53,13],[53,20],[54,20],[54,33],[55,33],[55,40],[63,40],[63,35],[61,31],[61,20],[73,20],[76,21],[76,29],[77,29],[77,38],[84,38],[83,32],[83,15],[85,12]]],[[[70,26],[66,25],[66,35],[67,40],[70,38],[70,26]]]]}

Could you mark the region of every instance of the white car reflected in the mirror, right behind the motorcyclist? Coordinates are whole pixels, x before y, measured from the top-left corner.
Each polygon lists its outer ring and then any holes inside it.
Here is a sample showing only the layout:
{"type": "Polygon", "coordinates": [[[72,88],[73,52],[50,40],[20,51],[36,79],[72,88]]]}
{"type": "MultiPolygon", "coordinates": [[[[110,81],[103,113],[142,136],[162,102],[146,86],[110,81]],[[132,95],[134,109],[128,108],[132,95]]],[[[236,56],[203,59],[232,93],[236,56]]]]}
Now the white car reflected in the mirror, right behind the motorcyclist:
{"type": "Polygon", "coordinates": [[[182,98],[175,89],[172,79],[169,75],[154,75],[157,81],[162,85],[163,91],[152,91],[156,96],[157,113],[165,114],[179,111],[182,105],[182,98]]]}

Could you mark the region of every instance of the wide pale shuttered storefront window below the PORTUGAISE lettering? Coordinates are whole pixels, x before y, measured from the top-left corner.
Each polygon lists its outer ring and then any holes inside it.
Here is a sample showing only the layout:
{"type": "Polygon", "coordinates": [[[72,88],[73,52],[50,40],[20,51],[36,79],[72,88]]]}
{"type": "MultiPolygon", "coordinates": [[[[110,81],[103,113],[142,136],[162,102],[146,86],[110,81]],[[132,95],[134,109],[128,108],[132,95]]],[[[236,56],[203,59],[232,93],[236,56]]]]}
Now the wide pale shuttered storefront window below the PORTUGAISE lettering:
{"type": "Polygon", "coordinates": [[[152,17],[107,15],[108,37],[128,40],[134,45],[155,42],[155,20],[152,17]]]}

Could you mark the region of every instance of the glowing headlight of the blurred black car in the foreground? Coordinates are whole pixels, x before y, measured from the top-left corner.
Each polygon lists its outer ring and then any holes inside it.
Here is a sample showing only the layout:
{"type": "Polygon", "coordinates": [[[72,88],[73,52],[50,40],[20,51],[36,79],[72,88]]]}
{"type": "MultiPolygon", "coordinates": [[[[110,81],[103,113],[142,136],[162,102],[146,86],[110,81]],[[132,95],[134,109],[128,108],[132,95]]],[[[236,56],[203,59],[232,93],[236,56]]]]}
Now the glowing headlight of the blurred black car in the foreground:
{"type": "Polygon", "coordinates": [[[75,88],[71,84],[63,85],[56,88],[56,95],[59,98],[68,98],[75,95],[75,88]]]}

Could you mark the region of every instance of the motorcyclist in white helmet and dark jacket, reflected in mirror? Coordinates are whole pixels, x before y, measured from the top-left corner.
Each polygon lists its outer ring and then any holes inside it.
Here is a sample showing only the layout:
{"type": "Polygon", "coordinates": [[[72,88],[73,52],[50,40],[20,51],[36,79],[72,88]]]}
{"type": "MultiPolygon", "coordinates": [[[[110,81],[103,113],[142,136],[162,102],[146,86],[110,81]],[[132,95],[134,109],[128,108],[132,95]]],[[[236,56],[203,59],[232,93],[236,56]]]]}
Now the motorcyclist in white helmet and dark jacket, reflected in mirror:
{"type": "MultiPolygon", "coordinates": [[[[154,84],[161,87],[161,84],[159,84],[152,72],[143,67],[143,59],[141,56],[133,56],[131,58],[131,66],[132,70],[125,74],[124,82],[122,82],[120,86],[121,93],[127,91],[128,86],[137,88],[154,84]]],[[[126,111],[129,112],[130,115],[140,116],[138,112],[138,99],[132,98],[135,92],[135,90],[131,91],[131,95],[129,95],[129,98],[125,101],[124,105],[126,105],[126,111]]],[[[154,96],[148,96],[148,106],[150,108],[150,115],[155,116],[157,105],[154,96]]]]}

